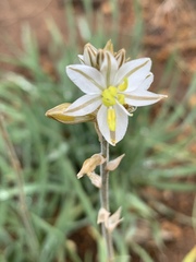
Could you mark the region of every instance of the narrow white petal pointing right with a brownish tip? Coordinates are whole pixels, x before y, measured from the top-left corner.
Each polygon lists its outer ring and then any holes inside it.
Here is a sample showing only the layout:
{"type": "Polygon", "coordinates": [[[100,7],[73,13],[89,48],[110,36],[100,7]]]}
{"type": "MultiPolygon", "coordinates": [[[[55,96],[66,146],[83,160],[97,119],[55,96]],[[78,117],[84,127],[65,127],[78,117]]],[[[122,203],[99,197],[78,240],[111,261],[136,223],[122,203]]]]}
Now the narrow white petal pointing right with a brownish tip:
{"type": "Polygon", "coordinates": [[[130,94],[125,94],[125,103],[131,106],[148,106],[152,105],[163,97],[167,97],[166,95],[158,95],[149,91],[139,90],[139,91],[133,91],[130,94]]]}

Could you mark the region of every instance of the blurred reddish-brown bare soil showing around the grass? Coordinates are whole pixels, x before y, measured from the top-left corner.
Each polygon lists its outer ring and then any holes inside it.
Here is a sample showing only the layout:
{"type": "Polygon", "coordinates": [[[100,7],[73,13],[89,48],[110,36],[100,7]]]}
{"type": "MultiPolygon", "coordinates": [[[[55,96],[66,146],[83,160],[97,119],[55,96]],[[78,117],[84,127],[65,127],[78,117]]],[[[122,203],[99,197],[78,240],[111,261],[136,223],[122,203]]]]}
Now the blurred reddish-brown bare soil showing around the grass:
{"type": "MultiPolygon", "coordinates": [[[[65,0],[64,0],[65,1],[65,0]]],[[[128,45],[130,32],[133,28],[135,16],[133,3],[128,0],[119,0],[121,15],[121,41],[128,45]]],[[[47,19],[53,19],[66,39],[66,20],[63,11],[63,0],[1,0],[0,1],[0,53],[14,53],[7,40],[21,45],[21,28],[28,23],[35,32],[40,50],[45,52],[50,40],[47,29],[47,19]]],[[[81,1],[74,1],[75,14],[83,14],[81,1]]],[[[145,20],[144,52],[152,57],[158,64],[157,79],[161,74],[164,61],[177,50],[181,59],[176,67],[182,70],[182,85],[189,82],[193,72],[196,70],[196,4],[193,0],[143,0],[140,1],[142,15],[145,20]]],[[[98,1],[95,4],[95,12],[102,12],[106,16],[107,25],[111,17],[111,7],[108,1],[98,1]]],[[[195,103],[195,102],[194,102],[195,103]]],[[[192,215],[194,193],[171,193],[158,192],[154,189],[146,190],[148,195],[157,195],[166,204],[185,215],[192,215]]],[[[146,241],[145,247],[151,252],[156,262],[180,262],[183,257],[194,247],[196,237],[191,225],[177,216],[166,217],[160,215],[161,228],[170,233],[170,238],[166,240],[162,251],[158,250],[146,241]]],[[[78,247],[78,253],[83,258],[84,250],[93,247],[95,242],[86,235],[86,228],[72,236],[78,247]],[[84,238],[85,236],[85,238],[84,238]],[[82,245],[83,243],[83,245],[82,245]]],[[[133,262],[140,260],[135,255],[133,262]]]]}

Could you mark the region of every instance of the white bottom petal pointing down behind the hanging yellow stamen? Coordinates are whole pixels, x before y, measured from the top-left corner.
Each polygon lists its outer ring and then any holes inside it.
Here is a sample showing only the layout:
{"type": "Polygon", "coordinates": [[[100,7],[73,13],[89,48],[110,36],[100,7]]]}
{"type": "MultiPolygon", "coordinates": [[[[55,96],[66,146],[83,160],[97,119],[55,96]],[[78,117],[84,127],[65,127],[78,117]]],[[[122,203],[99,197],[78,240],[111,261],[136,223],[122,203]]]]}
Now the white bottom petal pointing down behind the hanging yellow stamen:
{"type": "Polygon", "coordinates": [[[126,112],[117,104],[114,106],[114,110],[117,114],[117,130],[115,132],[111,132],[108,127],[107,121],[107,111],[108,108],[106,106],[101,106],[97,114],[97,121],[99,126],[99,130],[105,139],[111,145],[115,145],[119,141],[121,141],[127,129],[127,115],[126,112]],[[114,140],[114,142],[113,142],[114,140]]]}

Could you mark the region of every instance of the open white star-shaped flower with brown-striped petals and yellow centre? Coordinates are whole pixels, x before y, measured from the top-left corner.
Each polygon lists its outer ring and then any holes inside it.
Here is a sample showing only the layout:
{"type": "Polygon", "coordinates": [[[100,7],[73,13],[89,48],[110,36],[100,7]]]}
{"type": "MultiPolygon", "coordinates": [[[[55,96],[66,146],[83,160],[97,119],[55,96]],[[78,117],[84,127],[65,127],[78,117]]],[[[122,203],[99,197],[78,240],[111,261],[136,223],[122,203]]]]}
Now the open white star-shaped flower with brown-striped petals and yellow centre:
{"type": "Polygon", "coordinates": [[[79,117],[96,112],[99,131],[110,144],[115,145],[126,132],[130,108],[151,105],[166,96],[148,91],[154,81],[149,58],[120,64],[108,50],[100,50],[99,56],[98,69],[89,64],[66,68],[69,78],[85,95],[63,114],[79,117]]]}

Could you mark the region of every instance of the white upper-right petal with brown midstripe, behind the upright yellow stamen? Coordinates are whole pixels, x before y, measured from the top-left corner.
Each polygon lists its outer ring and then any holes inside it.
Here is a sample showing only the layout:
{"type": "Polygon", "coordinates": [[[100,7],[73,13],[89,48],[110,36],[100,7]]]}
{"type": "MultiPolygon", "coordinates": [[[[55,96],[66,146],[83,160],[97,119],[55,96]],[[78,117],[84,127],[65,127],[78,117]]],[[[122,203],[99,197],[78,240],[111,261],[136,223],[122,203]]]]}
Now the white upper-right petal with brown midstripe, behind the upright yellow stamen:
{"type": "Polygon", "coordinates": [[[115,84],[119,85],[124,79],[128,80],[127,91],[133,91],[146,79],[151,68],[149,58],[140,58],[124,63],[115,75],[115,84]]]}

